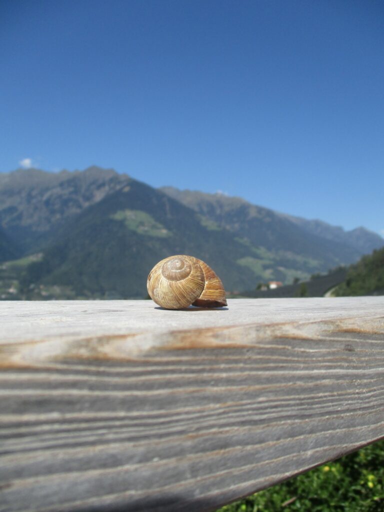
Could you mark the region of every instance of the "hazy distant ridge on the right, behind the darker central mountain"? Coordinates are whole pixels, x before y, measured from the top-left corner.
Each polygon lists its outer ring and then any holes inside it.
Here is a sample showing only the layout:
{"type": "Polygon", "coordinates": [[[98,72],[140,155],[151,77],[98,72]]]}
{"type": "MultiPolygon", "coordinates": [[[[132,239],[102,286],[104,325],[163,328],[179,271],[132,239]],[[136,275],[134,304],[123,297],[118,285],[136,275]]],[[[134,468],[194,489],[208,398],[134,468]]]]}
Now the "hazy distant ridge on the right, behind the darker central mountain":
{"type": "Polygon", "coordinates": [[[346,232],[321,221],[290,217],[223,194],[174,187],[162,187],[161,190],[193,208],[205,222],[227,228],[249,240],[253,246],[280,253],[287,259],[290,254],[313,259],[323,270],[327,266],[352,263],[361,254],[384,245],[381,237],[363,228],[346,232]]]}

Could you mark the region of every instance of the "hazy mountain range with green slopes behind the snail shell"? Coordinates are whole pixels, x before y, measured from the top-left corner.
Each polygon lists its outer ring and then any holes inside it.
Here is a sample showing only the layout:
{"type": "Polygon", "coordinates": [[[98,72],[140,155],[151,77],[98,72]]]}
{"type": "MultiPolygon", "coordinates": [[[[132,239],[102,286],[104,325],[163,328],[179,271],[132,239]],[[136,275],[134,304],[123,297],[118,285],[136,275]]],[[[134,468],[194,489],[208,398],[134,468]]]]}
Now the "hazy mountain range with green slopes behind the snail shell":
{"type": "Polygon", "coordinates": [[[206,261],[227,290],[241,292],[306,279],[383,245],[365,228],[344,231],[222,194],[156,189],[113,169],[0,174],[0,261],[40,254],[25,260],[17,284],[24,298],[41,298],[36,290],[144,297],[148,272],[177,253],[206,261]]]}

